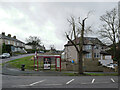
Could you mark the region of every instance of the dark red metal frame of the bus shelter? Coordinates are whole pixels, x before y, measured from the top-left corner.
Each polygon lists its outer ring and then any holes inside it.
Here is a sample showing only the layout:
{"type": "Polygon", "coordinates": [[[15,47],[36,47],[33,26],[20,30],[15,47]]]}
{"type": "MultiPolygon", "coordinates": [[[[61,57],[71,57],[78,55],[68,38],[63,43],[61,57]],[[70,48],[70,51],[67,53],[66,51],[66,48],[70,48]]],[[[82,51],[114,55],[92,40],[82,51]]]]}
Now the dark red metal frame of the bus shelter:
{"type": "MultiPolygon", "coordinates": [[[[60,70],[60,72],[61,72],[61,56],[60,55],[37,55],[36,54],[36,59],[37,59],[37,71],[39,70],[39,63],[38,63],[38,59],[39,58],[43,58],[43,60],[44,60],[44,58],[55,58],[55,69],[57,70],[57,69],[59,69],[60,70]],[[57,58],[59,58],[59,67],[57,67],[57,58]]],[[[35,57],[34,57],[34,70],[35,70],[35,57]]]]}

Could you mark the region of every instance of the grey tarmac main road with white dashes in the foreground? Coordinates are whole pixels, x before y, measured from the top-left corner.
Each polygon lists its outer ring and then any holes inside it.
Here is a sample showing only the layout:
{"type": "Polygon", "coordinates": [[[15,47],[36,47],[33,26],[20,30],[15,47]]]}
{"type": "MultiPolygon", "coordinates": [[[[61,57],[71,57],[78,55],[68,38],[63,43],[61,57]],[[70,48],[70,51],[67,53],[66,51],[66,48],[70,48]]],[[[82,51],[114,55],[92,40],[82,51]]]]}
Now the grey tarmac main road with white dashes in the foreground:
{"type": "Polygon", "coordinates": [[[2,76],[3,88],[118,88],[117,76],[2,76]]]}

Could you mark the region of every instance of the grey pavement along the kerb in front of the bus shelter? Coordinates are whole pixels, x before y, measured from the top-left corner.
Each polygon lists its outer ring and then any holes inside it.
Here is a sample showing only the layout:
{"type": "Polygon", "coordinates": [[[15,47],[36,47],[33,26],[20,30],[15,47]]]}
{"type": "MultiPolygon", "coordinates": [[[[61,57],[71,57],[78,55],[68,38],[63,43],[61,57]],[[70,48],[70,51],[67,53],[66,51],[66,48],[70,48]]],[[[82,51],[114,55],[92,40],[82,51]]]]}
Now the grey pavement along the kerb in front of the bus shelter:
{"type": "Polygon", "coordinates": [[[6,66],[4,66],[2,68],[2,74],[3,75],[12,75],[12,76],[59,76],[59,75],[64,75],[63,72],[58,72],[58,71],[34,71],[34,70],[21,71],[20,69],[6,68],[6,66]]]}

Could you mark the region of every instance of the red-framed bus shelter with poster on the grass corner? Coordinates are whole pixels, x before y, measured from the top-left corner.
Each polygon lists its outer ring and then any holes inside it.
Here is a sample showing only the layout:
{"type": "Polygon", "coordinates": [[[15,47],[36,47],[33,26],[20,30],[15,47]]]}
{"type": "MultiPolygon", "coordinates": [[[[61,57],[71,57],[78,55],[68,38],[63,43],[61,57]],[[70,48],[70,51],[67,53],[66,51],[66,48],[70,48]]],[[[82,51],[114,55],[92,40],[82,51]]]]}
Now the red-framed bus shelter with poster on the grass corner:
{"type": "Polygon", "coordinates": [[[60,55],[37,55],[34,57],[34,70],[50,70],[51,67],[61,72],[61,56],[60,55]]]}

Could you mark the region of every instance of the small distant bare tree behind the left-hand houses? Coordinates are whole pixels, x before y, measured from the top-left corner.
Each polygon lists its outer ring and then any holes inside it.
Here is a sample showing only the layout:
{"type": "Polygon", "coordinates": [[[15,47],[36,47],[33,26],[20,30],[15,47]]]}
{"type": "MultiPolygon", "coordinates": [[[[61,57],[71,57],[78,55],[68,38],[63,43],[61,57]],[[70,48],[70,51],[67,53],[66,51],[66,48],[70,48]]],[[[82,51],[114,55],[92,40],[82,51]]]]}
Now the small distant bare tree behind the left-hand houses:
{"type": "Polygon", "coordinates": [[[26,42],[29,45],[32,45],[33,49],[37,49],[37,47],[41,44],[41,39],[37,36],[29,36],[29,38],[26,38],[26,42]]]}

